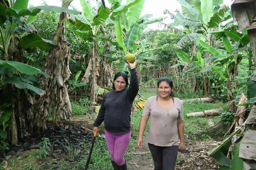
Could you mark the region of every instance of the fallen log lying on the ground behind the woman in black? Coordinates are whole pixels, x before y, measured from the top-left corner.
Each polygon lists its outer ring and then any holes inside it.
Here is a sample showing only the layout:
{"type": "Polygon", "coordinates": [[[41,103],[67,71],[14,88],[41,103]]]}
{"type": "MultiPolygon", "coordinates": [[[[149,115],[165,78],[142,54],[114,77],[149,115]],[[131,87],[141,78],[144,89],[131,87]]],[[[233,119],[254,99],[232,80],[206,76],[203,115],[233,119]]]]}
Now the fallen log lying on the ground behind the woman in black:
{"type": "MultiPolygon", "coordinates": [[[[61,120],[57,120],[57,125],[63,125],[63,124],[68,124],[68,125],[72,125],[72,126],[76,126],[76,127],[84,127],[84,128],[87,128],[87,129],[90,129],[92,130],[93,129],[93,123],[94,121],[93,120],[65,120],[64,122],[61,121],[61,120]]],[[[56,121],[53,120],[53,119],[50,119],[48,124],[50,125],[56,125],[56,121]]],[[[100,134],[103,134],[104,133],[104,124],[102,123],[100,126],[99,126],[99,133],[100,134]]],[[[132,135],[134,135],[134,124],[131,123],[131,131],[132,131],[132,135]]]]}

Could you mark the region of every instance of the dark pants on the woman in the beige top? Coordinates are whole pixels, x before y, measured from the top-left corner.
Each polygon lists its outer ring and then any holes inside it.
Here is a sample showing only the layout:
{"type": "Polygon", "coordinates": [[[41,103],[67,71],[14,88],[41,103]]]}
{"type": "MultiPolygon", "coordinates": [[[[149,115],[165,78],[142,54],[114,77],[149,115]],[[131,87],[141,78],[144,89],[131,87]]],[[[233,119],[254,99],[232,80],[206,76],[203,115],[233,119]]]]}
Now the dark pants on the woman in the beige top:
{"type": "Polygon", "coordinates": [[[154,170],[174,170],[178,154],[178,146],[161,147],[149,144],[154,161],[154,170]]]}

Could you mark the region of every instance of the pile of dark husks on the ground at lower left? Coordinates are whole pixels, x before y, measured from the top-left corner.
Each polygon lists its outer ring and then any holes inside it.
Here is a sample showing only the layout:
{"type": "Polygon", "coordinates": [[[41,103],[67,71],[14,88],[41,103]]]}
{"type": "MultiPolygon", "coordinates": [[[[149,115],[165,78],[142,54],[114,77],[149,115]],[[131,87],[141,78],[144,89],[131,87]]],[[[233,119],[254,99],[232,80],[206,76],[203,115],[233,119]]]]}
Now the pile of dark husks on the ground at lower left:
{"type": "MultiPolygon", "coordinates": [[[[23,158],[28,157],[30,152],[25,151],[40,149],[42,145],[39,145],[39,143],[42,142],[43,137],[49,138],[51,146],[48,152],[48,156],[52,158],[52,161],[64,160],[73,162],[74,160],[79,160],[79,158],[87,157],[88,149],[85,149],[82,146],[87,142],[91,142],[93,135],[90,132],[85,131],[82,127],[76,128],[72,127],[71,125],[65,125],[64,127],[49,126],[40,135],[33,134],[27,137],[19,137],[18,145],[10,146],[9,150],[6,150],[2,157],[0,157],[0,162],[10,158],[15,159],[21,155],[23,158]]],[[[44,160],[42,162],[42,160],[39,159],[37,161],[38,164],[46,163],[44,160]]],[[[44,166],[46,167],[41,168],[57,168],[59,165],[46,164],[44,166]]]]}

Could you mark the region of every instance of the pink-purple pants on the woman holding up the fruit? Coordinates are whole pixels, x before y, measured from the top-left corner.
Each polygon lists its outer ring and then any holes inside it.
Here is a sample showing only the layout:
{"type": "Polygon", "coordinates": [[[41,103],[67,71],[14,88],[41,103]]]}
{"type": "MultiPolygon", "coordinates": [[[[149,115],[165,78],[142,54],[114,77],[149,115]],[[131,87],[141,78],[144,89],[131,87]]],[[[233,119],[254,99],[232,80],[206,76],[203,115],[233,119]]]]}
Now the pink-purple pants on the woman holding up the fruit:
{"type": "Polygon", "coordinates": [[[126,134],[113,135],[105,130],[105,136],[111,160],[119,166],[124,165],[124,154],[131,140],[131,131],[126,134]]]}

